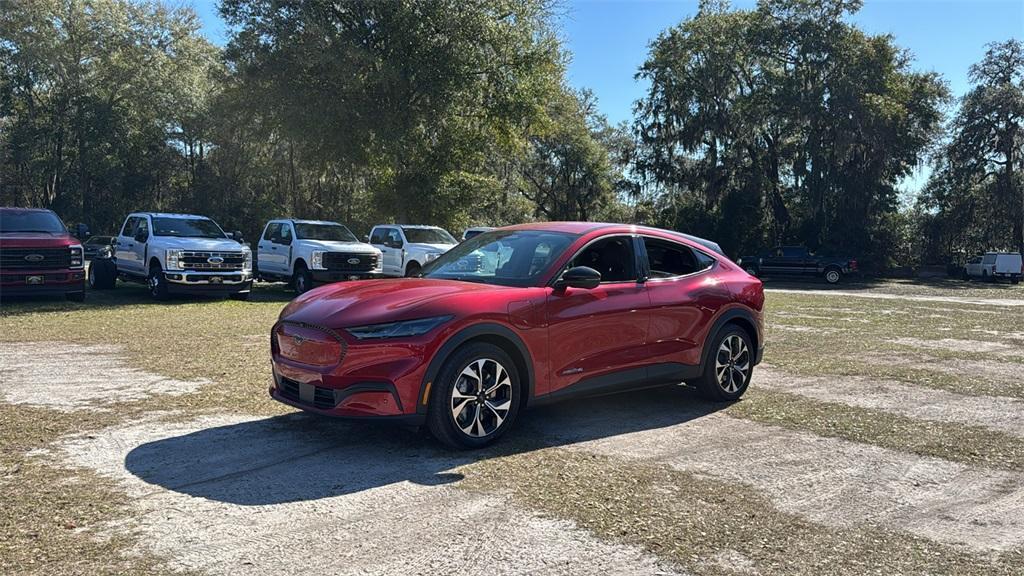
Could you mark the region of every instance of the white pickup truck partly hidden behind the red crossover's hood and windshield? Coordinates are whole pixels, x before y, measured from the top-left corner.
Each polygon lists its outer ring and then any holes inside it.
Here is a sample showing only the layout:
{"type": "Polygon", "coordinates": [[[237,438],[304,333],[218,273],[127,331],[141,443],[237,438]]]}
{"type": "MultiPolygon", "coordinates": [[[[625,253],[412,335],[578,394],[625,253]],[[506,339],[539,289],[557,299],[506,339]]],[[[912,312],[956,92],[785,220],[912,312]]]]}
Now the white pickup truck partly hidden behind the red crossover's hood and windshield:
{"type": "Polygon", "coordinates": [[[370,232],[370,244],[384,255],[384,276],[416,276],[458,243],[437,227],[378,224],[370,232]]]}

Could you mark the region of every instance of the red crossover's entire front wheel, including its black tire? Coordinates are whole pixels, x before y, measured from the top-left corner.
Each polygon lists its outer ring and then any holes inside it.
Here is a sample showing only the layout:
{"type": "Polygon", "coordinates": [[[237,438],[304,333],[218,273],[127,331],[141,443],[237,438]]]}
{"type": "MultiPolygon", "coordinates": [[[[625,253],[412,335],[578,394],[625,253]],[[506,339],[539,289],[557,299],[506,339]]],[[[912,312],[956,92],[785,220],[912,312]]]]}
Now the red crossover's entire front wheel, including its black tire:
{"type": "Polygon", "coordinates": [[[464,345],[444,360],[434,378],[427,410],[427,428],[450,448],[465,450],[487,446],[515,423],[523,389],[525,386],[515,363],[505,351],[485,342],[464,345]],[[481,366],[479,363],[482,363],[483,372],[480,378],[463,375],[466,370],[479,374],[481,369],[476,368],[481,366]],[[490,363],[500,366],[506,373],[508,384],[501,385],[506,379],[498,378],[500,372],[490,368],[490,363]],[[494,388],[493,396],[486,395],[487,387],[494,388]],[[456,398],[457,389],[461,398],[456,398]],[[472,400],[474,397],[476,400],[472,400]],[[460,401],[462,404],[457,405],[460,401]],[[454,414],[460,406],[459,413],[454,414]],[[494,410],[495,407],[499,409],[494,410]]]}

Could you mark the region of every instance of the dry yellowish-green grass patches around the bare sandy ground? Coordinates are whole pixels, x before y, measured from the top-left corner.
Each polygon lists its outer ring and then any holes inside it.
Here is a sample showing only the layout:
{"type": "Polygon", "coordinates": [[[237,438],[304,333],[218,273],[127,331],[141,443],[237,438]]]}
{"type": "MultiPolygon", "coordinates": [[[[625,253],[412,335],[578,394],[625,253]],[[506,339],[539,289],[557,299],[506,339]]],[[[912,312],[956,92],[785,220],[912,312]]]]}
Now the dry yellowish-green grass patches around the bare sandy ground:
{"type": "MultiPolygon", "coordinates": [[[[820,287],[816,287],[820,288],[820,287]]],[[[1024,297],[1019,287],[925,286],[935,295],[1024,297]],[[969,290],[970,292],[955,291],[969,290]],[[975,292],[976,291],[976,292],[975,292]],[[1009,294],[1009,295],[1008,295],[1009,294]]],[[[866,289],[909,293],[904,283],[866,289]],[[902,292],[901,292],[902,291],[902,292]]],[[[154,574],[162,559],[139,553],[127,534],[97,537],[130,515],[112,481],[31,457],[54,439],[87,434],[156,410],[177,418],[205,412],[290,411],[266,396],[270,326],[292,294],[260,286],[255,301],[151,302],[139,287],[59,300],[3,302],[0,342],[113,343],[131,365],[178,379],[207,378],[199,393],[122,403],[115,411],[63,413],[0,402],[0,573],[154,574]]],[[[959,394],[1024,398],[1024,307],[906,299],[771,293],[766,361],[802,375],[889,378],[959,394]],[[924,347],[909,338],[931,340],[924,347]],[[965,340],[995,352],[956,349],[965,340]],[[974,362],[982,373],[959,370],[974,362]]],[[[753,389],[728,414],[819,436],[992,468],[1024,469],[1024,443],[982,426],[896,416],[879,410],[753,389]]],[[[657,465],[557,448],[529,449],[465,467],[460,486],[512,491],[523,505],[571,520],[599,536],[640,545],[694,573],[731,574],[723,551],[762,574],[1019,574],[1024,551],[994,559],[879,527],[834,530],[776,510],[749,487],[657,465]],[[488,488],[490,487],[490,488],[488,488]]]]}

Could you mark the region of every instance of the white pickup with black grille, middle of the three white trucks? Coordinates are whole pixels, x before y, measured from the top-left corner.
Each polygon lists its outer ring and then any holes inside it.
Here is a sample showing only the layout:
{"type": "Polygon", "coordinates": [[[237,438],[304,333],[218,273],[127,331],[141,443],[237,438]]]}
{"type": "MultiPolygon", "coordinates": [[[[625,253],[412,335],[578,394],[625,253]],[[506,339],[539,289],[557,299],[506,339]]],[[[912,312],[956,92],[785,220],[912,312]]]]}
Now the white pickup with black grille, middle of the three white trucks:
{"type": "Polygon", "coordinates": [[[270,220],[256,250],[261,280],[290,282],[298,293],[317,283],[376,278],[381,251],[347,228],[325,220],[270,220]]]}

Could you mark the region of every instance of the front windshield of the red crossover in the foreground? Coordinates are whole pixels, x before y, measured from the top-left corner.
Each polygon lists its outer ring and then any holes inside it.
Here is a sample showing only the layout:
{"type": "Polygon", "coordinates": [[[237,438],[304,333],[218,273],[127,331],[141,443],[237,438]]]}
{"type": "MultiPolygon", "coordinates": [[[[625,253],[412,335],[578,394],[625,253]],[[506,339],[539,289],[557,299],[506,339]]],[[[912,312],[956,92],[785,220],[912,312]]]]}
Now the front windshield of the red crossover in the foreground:
{"type": "Polygon", "coordinates": [[[481,234],[423,268],[421,276],[501,286],[534,286],[578,237],[537,230],[481,234]]]}

